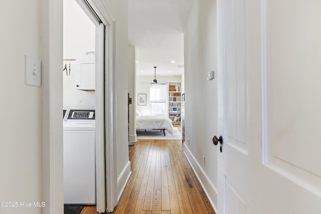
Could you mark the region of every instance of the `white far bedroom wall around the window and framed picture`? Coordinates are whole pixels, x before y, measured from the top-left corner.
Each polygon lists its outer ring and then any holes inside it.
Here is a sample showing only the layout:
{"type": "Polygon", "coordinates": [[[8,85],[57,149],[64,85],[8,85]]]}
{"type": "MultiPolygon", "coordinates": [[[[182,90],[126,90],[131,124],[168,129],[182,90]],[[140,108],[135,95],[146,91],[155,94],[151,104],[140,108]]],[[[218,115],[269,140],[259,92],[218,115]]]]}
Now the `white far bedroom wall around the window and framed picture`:
{"type": "MultiPolygon", "coordinates": [[[[154,76],[136,76],[136,110],[140,115],[150,115],[150,103],[149,103],[149,89],[150,83],[154,79],[154,76]],[[138,94],[146,94],[146,105],[137,105],[138,94]]],[[[181,82],[181,76],[156,76],[157,82],[181,82]]]]}

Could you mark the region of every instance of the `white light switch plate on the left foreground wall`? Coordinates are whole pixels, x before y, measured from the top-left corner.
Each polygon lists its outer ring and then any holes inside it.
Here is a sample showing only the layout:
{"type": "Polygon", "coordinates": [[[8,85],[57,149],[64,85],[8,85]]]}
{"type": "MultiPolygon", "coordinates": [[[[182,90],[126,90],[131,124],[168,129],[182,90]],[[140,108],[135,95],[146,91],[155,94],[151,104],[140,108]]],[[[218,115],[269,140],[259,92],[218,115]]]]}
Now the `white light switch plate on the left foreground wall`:
{"type": "Polygon", "coordinates": [[[41,61],[25,56],[26,85],[41,87],[41,61]]]}

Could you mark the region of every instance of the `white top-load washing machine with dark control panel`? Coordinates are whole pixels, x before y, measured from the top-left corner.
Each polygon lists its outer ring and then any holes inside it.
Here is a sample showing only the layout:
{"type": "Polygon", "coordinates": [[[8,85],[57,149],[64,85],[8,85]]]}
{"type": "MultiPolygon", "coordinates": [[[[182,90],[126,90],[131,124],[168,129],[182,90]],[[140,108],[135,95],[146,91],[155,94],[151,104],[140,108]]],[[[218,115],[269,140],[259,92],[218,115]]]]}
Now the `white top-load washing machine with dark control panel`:
{"type": "Polygon", "coordinates": [[[64,114],[64,203],[96,204],[95,110],[64,114]]]}

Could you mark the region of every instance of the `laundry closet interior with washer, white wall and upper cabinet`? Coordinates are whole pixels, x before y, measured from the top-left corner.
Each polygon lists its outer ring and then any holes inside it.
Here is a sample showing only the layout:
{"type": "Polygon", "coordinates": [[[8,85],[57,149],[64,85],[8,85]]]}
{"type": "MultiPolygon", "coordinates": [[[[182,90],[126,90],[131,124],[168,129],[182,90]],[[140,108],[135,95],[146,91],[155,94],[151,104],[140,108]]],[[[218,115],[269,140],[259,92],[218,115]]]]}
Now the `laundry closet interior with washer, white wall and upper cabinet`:
{"type": "Polygon", "coordinates": [[[95,25],[74,0],[64,0],[64,203],[96,204],[95,25]]]}

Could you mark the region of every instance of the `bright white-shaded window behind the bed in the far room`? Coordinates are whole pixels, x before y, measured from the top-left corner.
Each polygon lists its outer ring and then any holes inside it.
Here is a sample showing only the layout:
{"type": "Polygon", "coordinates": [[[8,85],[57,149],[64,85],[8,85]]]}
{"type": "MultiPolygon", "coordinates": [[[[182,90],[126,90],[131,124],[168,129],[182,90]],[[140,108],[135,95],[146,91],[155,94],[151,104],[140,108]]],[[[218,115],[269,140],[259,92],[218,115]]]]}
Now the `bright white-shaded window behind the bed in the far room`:
{"type": "Polygon", "coordinates": [[[167,84],[150,84],[151,114],[166,114],[167,84]]]}

